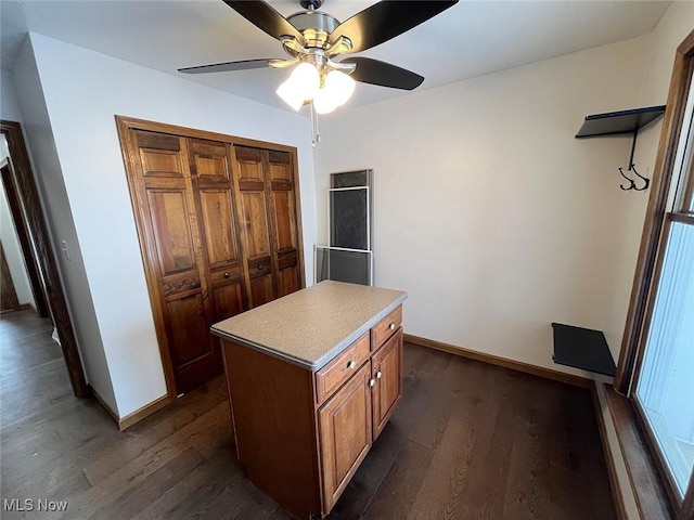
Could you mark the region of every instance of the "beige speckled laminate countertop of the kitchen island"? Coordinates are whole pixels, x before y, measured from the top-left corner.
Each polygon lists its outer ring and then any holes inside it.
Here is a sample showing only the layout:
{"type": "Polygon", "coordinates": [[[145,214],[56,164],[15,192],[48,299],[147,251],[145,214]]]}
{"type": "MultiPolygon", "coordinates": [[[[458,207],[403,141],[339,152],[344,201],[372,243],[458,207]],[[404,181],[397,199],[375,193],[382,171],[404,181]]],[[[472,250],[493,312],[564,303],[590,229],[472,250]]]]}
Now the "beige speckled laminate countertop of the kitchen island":
{"type": "Polygon", "coordinates": [[[407,297],[401,290],[324,281],[216,323],[211,332],[316,372],[407,297]]]}

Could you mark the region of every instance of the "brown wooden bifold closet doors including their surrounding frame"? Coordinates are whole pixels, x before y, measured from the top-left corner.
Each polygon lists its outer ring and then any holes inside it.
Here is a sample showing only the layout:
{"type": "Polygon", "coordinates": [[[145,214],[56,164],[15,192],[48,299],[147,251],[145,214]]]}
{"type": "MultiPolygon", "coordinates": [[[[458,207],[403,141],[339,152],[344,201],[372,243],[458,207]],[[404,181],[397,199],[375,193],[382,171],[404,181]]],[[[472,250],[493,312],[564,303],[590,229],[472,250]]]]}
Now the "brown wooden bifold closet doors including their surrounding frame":
{"type": "Polygon", "coordinates": [[[211,324],[304,286],[296,152],[117,121],[174,396],[221,374],[211,324]]]}

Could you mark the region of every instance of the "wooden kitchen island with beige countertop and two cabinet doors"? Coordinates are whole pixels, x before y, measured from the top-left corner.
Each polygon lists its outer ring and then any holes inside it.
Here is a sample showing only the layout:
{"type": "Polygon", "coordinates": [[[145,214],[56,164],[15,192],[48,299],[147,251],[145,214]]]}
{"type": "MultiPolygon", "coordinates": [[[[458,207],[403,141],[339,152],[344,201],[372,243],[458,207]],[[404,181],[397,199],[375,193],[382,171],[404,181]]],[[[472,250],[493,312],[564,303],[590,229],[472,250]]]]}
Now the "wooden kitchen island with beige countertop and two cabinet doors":
{"type": "Polygon", "coordinates": [[[330,512],[402,398],[406,298],[325,281],[213,325],[239,460],[300,519],[330,512]]]}

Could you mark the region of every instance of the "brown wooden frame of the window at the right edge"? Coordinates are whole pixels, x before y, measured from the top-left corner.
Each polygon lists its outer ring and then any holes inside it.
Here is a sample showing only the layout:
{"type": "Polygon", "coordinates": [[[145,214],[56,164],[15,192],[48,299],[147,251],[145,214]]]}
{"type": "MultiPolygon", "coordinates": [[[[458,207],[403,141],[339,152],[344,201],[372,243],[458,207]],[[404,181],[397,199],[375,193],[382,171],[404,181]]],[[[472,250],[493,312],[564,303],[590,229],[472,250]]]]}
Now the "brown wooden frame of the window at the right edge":
{"type": "MultiPolygon", "coordinates": [[[[690,477],[684,497],[680,494],[668,471],[665,459],[657,447],[654,433],[646,420],[645,413],[635,398],[635,386],[641,376],[645,343],[655,307],[655,295],[663,264],[666,246],[672,227],[672,222],[683,222],[694,225],[692,199],[694,198],[694,172],[689,166],[689,177],[682,186],[684,194],[679,197],[678,208],[670,210],[673,183],[679,176],[674,176],[677,167],[677,151],[684,129],[684,119],[690,90],[694,89],[694,30],[678,47],[668,103],[663,122],[660,142],[656,157],[655,171],[650,194],[646,219],[644,222],[639,260],[634,273],[631,300],[627,314],[621,352],[615,376],[615,389],[626,395],[634,411],[640,430],[644,433],[645,443],[653,456],[656,469],[660,474],[665,491],[668,495],[674,518],[694,518],[694,471],[690,477]]],[[[694,95],[694,93],[693,93],[694,95]]],[[[633,484],[633,482],[632,482],[633,484]]],[[[634,486],[638,492],[638,487],[634,486]]]]}

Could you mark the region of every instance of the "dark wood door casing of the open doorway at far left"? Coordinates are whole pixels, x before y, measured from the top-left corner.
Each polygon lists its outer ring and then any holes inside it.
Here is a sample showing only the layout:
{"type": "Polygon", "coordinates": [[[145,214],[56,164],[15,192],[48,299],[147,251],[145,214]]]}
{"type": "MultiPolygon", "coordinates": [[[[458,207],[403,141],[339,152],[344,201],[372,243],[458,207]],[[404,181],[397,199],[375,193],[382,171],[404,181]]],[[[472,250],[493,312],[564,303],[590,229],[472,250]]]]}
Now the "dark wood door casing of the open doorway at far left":
{"type": "Polygon", "coordinates": [[[51,235],[46,220],[39,190],[29,161],[22,126],[16,121],[0,119],[0,132],[8,140],[12,168],[12,183],[17,200],[24,208],[26,227],[33,237],[38,261],[40,262],[43,286],[48,297],[53,325],[60,337],[61,349],[69,376],[73,393],[78,398],[91,396],[82,368],[75,329],[63,290],[60,270],[53,253],[51,235]]]}

